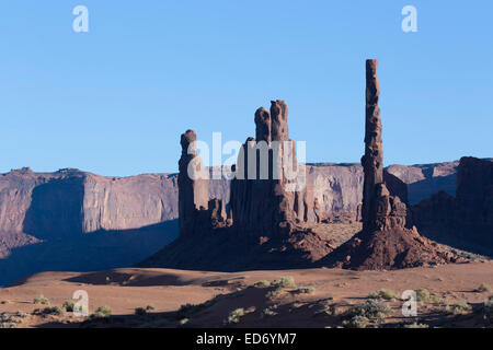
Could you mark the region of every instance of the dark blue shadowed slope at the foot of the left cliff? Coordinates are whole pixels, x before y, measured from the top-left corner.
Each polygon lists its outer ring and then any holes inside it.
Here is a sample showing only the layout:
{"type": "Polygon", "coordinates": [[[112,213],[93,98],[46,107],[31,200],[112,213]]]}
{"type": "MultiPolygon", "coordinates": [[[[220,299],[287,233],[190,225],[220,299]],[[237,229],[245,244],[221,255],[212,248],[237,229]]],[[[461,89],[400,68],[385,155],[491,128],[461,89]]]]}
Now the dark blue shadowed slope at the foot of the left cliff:
{"type": "Polygon", "coordinates": [[[177,234],[177,220],[170,220],[134,230],[73,233],[15,248],[9,257],[0,259],[0,285],[42,271],[98,271],[133,266],[173,242],[177,234]]]}

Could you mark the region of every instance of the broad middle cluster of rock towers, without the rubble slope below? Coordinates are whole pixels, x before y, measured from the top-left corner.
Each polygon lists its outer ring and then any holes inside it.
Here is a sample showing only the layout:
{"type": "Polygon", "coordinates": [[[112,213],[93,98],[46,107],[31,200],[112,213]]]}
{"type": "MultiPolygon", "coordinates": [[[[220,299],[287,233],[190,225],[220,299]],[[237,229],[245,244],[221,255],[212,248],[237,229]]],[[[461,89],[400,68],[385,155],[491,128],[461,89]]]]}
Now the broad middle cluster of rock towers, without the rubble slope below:
{"type": "Polygon", "coordinates": [[[259,108],[255,138],[248,138],[240,149],[230,203],[234,228],[246,234],[288,235],[297,223],[316,220],[311,191],[297,183],[297,175],[306,179],[306,174],[296,161],[284,101],[272,101],[271,113],[259,108]]]}

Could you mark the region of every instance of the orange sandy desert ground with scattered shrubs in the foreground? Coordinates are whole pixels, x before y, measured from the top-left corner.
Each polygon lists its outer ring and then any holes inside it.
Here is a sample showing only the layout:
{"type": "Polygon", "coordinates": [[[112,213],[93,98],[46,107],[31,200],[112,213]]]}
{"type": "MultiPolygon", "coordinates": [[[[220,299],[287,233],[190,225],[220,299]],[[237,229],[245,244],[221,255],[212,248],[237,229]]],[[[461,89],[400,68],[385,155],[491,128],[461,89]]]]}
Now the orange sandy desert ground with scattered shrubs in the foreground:
{"type": "MultiPolygon", "coordinates": [[[[351,271],[303,269],[245,271],[234,273],[172,269],[125,268],[101,272],[44,272],[0,289],[0,314],[27,313],[18,327],[336,327],[344,324],[344,312],[368,300],[368,294],[390,289],[401,296],[404,290],[427,289],[431,293],[417,306],[417,317],[403,317],[402,301],[385,301],[391,315],[379,326],[398,327],[420,323],[440,327],[483,327],[479,307],[493,292],[475,291],[481,283],[493,285],[493,262],[474,261],[433,268],[395,271],[351,271]],[[297,287],[254,288],[252,283],[293,277],[297,287]],[[313,287],[300,293],[299,287],[313,287]],[[77,290],[89,294],[89,308],[108,305],[112,317],[85,320],[72,313],[64,316],[35,312],[47,305],[34,304],[43,294],[49,305],[61,306],[77,290]],[[276,291],[275,293],[270,293],[276,291]],[[200,307],[177,311],[185,304],[200,307]],[[447,305],[469,303],[471,311],[447,313],[447,305]],[[135,316],[135,308],[152,305],[147,315],[135,316]],[[231,313],[238,308],[238,323],[231,313]],[[321,312],[331,308],[331,312],[321,312]],[[228,320],[228,318],[230,318],[228,320]]],[[[372,323],[375,326],[375,323],[372,323]]],[[[486,325],[488,326],[488,325],[486,325]]]]}

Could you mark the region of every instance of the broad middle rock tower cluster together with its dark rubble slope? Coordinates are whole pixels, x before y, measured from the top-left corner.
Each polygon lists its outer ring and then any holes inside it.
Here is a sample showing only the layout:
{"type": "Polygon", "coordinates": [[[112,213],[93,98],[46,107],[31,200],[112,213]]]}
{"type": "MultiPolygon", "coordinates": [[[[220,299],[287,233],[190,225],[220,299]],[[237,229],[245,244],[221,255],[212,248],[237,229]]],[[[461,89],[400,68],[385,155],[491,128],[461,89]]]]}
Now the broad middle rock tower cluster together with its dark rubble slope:
{"type": "MultiPolygon", "coordinates": [[[[318,215],[305,166],[297,164],[295,142],[289,139],[284,101],[272,101],[271,113],[259,108],[255,125],[256,138],[248,138],[239,152],[229,217],[218,199],[209,201],[207,211],[191,203],[193,229],[181,226],[179,240],[139,267],[226,271],[309,267],[333,249],[329,237],[305,226],[318,215]]],[[[180,176],[187,174],[181,168],[180,176]]],[[[182,208],[184,197],[179,198],[182,208]]]]}

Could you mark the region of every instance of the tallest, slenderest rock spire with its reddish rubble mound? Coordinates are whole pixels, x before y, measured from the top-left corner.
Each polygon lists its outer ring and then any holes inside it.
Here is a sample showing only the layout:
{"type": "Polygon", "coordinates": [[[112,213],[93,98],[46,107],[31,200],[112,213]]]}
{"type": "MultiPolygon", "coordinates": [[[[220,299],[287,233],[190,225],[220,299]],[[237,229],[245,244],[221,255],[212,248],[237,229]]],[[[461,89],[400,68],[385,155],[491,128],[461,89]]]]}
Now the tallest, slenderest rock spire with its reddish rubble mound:
{"type": "Polygon", "coordinates": [[[331,266],[355,269],[394,269],[456,261],[415,228],[405,229],[406,205],[389,192],[383,177],[383,147],[378,98],[377,60],[366,61],[366,125],[363,231],[336,248],[331,266]]]}

